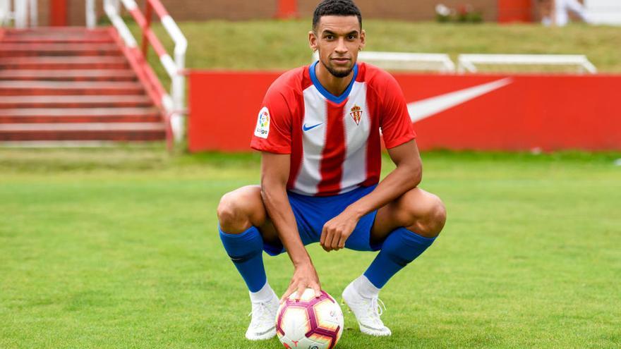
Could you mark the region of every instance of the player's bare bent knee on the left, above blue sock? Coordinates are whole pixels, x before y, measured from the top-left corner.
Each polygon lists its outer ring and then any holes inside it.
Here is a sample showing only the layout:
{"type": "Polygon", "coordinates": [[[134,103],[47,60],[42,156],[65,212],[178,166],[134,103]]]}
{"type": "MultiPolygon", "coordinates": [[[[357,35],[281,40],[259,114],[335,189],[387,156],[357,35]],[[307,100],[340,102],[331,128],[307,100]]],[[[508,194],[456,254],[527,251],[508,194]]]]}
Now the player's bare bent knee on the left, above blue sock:
{"type": "Polygon", "coordinates": [[[240,188],[222,196],[217,208],[218,222],[222,231],[236,234],[250,228],[251,211],[253,206],[256,206],[254,191],[252,188],[240,188]]]}

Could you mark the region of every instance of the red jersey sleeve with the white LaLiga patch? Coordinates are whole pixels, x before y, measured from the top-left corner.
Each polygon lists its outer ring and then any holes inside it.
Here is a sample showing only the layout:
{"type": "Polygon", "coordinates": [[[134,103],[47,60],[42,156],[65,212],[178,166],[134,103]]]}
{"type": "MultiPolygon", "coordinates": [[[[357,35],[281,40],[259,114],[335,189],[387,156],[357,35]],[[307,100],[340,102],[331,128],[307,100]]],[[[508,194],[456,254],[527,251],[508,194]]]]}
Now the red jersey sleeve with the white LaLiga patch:
{"type": "Polygon", "coordinates": [[[282,93],[273,87],[263,99],[251,147],[261,152],[291,154],[291,110],[282,93]]]}

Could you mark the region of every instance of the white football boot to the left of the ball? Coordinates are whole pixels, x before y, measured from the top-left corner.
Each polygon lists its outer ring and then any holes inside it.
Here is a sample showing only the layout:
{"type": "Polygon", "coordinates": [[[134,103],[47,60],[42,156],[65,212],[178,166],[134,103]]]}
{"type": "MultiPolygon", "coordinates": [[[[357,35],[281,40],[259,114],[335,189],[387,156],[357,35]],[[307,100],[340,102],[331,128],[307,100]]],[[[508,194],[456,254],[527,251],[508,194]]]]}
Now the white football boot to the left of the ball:
{"type": "Polygon", "coordinates": [[[248,316],[252,316],[252,319],[248,331],[246,331],[246,338],[251,341],[260,341],[276,336],[276,316],[280,300],[271,288],[270,293],[272,296],[267,300],[251,300],[252,312],[248,316]]]}

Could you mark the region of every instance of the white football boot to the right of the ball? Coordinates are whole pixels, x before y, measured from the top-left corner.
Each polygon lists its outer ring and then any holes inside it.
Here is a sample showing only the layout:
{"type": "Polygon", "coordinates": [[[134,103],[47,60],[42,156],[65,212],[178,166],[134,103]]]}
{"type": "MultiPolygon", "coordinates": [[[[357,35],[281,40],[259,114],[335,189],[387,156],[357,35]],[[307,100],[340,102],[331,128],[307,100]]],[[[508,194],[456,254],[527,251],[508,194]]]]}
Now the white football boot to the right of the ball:
{"type": "Polygon", "coordinates": [[[384,302],[380,298],[363,297],[356,290],[354,282],[351,282],[343,291],[343,300],[351,312],[356,315],[356,320],[358,320],[362,333],[370,334],[371,336],[390,336],[392,334],[390,329],[384,326],[382,319],[380,319],[382,307],[386,309],[384,302]]]}

